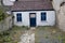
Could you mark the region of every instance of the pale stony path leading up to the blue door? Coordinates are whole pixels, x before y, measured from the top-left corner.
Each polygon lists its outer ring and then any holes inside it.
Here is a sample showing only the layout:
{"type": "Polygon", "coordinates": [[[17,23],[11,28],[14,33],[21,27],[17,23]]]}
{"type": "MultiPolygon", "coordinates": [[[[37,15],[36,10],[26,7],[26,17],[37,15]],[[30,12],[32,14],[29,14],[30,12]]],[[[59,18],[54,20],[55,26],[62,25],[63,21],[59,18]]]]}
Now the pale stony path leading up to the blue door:
{"type": "Polygon", "coordinates": [[[35,43],[35,33],[32,29],[25,31],[25,33],[21,37],[21,42],[18,43],[35,43]]]}

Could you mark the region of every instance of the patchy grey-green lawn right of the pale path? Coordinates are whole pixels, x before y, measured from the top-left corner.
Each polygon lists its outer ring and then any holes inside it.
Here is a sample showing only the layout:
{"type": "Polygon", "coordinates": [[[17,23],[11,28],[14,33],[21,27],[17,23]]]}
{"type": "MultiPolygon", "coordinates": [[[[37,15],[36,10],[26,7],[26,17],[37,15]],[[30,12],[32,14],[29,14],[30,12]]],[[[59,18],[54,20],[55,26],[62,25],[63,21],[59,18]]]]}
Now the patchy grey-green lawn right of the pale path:
{"type": "Polygon", "coordinates": [[[65,43],[65,32],[56,27],[37,27],[36,43],[65,43]]]}

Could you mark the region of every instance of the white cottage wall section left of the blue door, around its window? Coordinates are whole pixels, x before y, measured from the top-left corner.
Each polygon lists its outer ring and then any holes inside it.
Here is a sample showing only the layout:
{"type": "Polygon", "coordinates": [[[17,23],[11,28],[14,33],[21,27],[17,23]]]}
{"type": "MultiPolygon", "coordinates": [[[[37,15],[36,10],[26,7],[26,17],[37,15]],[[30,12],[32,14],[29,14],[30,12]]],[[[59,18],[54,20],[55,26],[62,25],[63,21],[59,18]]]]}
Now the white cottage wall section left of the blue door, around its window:
{"type": "Polygon", "coordinates": [[[29,14],[27,12],[13,12],[14,14],[14,25],[17,25],[17,26],[29,26],[29,14]],[[16,14],[17,13],[22,13],[22,23],[17,23],[16,22],[16,14]]]}

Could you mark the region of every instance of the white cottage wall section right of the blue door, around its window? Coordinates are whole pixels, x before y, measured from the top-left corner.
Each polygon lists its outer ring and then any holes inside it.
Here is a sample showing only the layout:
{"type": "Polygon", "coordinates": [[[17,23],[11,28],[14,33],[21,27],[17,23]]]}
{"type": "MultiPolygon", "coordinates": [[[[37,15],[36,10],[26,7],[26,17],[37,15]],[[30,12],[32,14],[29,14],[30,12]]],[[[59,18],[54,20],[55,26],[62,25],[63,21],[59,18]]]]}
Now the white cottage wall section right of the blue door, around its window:
{"type": "Polygon", "coordinates": [[[55,24],[54,11],[40,11],[37,13],[37,26],[53,26],[55,24]],[[41,12],[47,12],[47,22],[41,22],[41,12]]]}

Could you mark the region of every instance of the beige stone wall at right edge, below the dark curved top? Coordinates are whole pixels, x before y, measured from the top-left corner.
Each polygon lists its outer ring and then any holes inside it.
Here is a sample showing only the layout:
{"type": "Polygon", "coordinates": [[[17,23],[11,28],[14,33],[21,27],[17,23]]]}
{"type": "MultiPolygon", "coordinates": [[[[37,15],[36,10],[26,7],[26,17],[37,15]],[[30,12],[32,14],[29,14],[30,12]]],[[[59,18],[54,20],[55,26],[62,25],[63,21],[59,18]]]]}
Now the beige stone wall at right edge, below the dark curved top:
{"type": "Polygon", "coordinates": [[[65,5],[61,6],[57,13],[57,27],[65,31],[65,5]]]}

